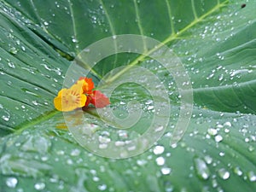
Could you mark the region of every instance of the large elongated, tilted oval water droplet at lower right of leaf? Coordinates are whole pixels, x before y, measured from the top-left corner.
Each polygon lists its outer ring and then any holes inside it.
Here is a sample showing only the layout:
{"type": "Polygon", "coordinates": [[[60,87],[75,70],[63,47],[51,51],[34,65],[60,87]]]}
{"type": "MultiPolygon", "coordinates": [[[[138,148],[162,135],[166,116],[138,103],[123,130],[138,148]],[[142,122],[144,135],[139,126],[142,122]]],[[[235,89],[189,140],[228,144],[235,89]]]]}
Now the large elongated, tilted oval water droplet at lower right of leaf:
{"type": "Polygon", "coordinates": [[[207,180],[208,177],[210,177],[210,171],[207,167],[207,164],[204,160],[201,160],[200,158],[195,158],[195,172],[198,177],[201,179],[207,180]]]}

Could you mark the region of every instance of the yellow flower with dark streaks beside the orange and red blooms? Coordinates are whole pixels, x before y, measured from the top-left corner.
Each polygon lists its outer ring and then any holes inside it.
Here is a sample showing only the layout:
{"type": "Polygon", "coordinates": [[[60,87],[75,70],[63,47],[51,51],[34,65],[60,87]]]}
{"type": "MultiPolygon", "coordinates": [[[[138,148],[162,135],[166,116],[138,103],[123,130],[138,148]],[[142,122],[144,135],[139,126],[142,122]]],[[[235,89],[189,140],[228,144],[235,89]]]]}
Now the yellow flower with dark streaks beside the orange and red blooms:
{"type": "Polygon", "coordinates": [[[70,89],[62,89],[54,99],[55,108],[59,111],[72,111],[85,105],[87,96],[83,94],[82,82],[73,84],[70,89]]]}

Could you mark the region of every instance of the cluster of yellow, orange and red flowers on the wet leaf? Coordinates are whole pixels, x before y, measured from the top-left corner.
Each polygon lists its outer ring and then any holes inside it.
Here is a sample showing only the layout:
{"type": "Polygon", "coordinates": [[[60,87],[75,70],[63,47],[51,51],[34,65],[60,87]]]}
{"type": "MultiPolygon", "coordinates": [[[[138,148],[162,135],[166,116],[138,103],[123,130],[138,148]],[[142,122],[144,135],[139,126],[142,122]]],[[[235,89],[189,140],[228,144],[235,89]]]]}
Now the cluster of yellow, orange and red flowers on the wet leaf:
{"type": "Polygon", "coordinates": [[[62,89],[54,99],[55,108],[59,111],[72,111],[76,108],[104,108],[110,102],[100,90],[94,90],[94,83],[89,78],[79,78],[69,89],[62,89]]]}

